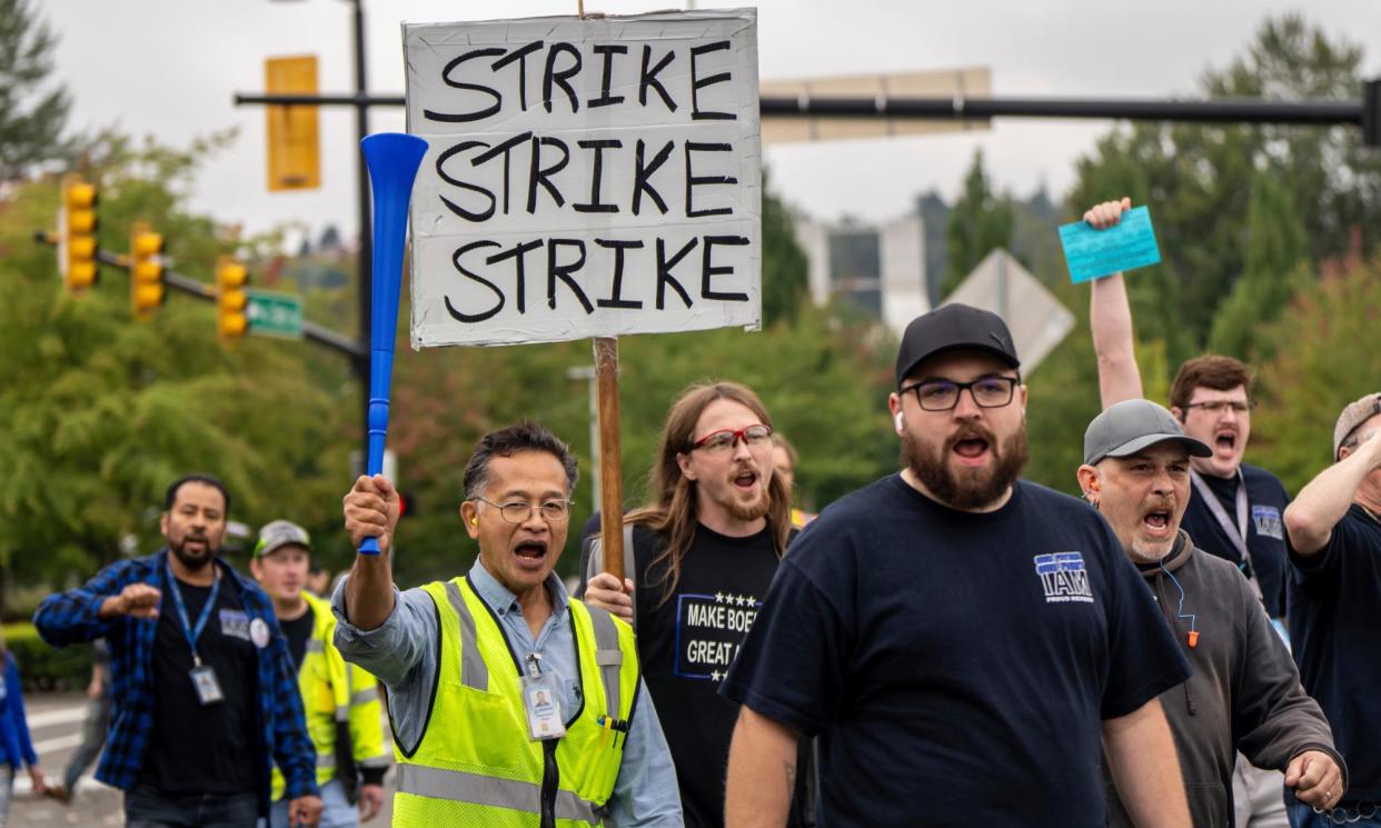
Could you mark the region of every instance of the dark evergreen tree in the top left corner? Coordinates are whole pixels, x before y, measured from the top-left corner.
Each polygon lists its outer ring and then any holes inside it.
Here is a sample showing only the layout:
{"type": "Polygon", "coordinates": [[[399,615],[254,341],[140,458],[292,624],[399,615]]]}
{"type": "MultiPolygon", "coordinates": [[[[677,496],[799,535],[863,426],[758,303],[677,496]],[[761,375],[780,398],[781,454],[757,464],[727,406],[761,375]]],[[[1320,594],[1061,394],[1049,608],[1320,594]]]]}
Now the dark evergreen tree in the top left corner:
{"type": "Polygon", "coordinates": [[[55,44],[29,0],[0,0],[0,181],[66,153],[72,102],[65,87],[50,83],[55,44]]]}

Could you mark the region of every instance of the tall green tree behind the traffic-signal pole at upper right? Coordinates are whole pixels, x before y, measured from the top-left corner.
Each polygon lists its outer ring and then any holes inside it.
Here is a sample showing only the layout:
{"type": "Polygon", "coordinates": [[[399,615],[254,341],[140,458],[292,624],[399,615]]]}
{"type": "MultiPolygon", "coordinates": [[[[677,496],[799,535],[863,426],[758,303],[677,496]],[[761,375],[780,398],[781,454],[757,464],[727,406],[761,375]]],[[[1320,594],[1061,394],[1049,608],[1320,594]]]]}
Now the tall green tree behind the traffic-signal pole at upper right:
{"type": "MultiPolygon", "coordinates": [[[[1304,18],[1268,19],[1242,57],[1204,73],[1200,92],[1358,99],[1362,57],[1360,47],[1304,18]]],[[[1308,258],[1345,253],[1355,228],[1367,251],[1381,240],[1381,157],[1362,146],[1355,128],[1141,123],[1113,130],[1079,161],[1070,215],[1124,195],[1150,206],[1163,264],[1138,270],[1128,291],[1142,334],[1166,341],[1172,363],[1204,348],[1247,270],[1251,200],[1261,189],[1253,185],[1261,175],[1300,208],[1308,258]]]]}

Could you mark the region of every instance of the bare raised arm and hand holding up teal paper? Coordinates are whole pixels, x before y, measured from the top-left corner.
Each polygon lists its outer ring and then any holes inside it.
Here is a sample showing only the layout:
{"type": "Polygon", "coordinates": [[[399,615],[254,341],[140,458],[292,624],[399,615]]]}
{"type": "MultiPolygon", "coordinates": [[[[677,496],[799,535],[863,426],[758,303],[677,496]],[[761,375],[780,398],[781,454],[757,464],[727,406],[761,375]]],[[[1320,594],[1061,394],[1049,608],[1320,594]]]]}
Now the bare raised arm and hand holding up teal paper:
{"type": "MultiPolygon", "coordinates": [[[[1108,229],[1120,224],[1121,214],[1127,210],[1131,210],[1131,199],[1105,201],[1085,213],[1084,221],[1101,230],[1108,229]]],[[[1094,334],[1094,352],[1098,355],[1098,393],[1103,408],[1145,396],[1132,345],[1135,337],[1131,304],[1127,301],[1127,283],[1121,273],[1094,280],[1088,299],[1088,324],[1094,334]]]]}

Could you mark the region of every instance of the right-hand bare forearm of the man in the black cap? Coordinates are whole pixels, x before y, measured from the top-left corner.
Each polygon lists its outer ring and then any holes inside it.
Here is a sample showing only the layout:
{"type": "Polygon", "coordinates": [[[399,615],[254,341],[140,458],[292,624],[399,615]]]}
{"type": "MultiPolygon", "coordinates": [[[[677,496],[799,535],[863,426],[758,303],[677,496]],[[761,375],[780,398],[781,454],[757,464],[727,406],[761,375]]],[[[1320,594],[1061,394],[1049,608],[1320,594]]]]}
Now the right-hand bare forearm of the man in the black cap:
{"type": "Polygon", "coordinates": [[[1117,796],[1139,828],[1189,828],[1185,781],[1159,698],[1105,720],[1103,749],[1117,796]]]}

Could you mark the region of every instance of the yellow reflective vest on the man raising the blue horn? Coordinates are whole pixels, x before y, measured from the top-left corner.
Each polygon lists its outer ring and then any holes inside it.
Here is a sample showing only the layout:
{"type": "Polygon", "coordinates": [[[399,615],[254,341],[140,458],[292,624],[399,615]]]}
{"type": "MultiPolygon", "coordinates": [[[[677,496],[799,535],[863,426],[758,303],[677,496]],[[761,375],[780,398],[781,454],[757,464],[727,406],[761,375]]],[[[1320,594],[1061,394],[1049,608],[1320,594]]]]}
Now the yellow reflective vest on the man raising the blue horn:
{"type": "Polygon", "coordinates": [[[638,690],[632,629],[570,602],[583,702],[566,736],[530,741],[521,667],[467,578],[423,586],[436,604],[441,662],[412,753],[395,745],[395,828],[602,825],[638,690]]]}

